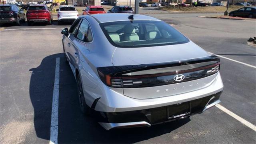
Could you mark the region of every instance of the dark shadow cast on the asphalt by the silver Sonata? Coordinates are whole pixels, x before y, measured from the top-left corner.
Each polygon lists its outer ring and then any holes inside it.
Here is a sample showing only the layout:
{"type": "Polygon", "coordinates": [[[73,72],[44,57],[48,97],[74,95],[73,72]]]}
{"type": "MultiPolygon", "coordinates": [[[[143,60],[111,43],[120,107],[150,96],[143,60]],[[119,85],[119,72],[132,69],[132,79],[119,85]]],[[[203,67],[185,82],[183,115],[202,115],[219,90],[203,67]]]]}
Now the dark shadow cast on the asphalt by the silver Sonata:
{"type": "Polygon", "coordinates": [[[58,143],[134,143],[167,134],[190,121],[189,118],[150,128],[106,131],[94,118],[80,112],[76,81],[62,53],[45,57],[32,68],[30,99],[34,107],[34,127],[38,138],[50,139],[52,93],[56,58],[60,57],[58,143]]]}

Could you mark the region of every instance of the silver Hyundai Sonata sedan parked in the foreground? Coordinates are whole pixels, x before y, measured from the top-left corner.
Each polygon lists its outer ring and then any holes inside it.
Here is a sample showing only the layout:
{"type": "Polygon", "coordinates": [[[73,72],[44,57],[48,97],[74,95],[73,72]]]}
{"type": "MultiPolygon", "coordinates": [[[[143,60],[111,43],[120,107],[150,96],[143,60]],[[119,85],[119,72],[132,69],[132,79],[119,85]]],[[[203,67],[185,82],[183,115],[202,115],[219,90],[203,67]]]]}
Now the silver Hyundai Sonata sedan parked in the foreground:
{"type": "Polygon", "coordinates": [[[162,20],[95,14],[61,33],[81,111],[106,130],[188,118],[220,102],[220,59],[162,20]]]}

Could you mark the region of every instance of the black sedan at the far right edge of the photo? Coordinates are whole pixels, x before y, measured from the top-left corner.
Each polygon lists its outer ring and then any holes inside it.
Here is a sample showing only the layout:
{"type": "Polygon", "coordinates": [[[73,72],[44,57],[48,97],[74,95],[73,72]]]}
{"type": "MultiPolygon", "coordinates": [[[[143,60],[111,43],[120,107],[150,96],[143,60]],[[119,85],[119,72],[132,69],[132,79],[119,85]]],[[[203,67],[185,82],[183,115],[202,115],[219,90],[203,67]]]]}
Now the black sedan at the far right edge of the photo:
{"type": "Polygon", "coordinates": [[[228,14],[229,16],[256,18],[256,7],[245,7],[234,10],[228,14]]]}

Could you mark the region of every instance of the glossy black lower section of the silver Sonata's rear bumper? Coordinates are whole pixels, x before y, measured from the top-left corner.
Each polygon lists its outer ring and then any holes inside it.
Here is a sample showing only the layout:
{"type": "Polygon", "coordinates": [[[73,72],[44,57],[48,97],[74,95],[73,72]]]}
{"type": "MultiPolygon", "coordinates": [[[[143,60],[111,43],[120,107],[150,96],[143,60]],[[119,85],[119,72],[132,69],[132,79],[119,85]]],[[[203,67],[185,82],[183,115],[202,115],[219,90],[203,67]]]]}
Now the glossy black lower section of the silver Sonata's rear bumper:
{"type": "Polygon", "coordinates": [[[112,128],[149,127],[154,124],[161,124],[183,119],[194,114],[200,114],[218,104],[220,102],[219,98],[221,93],[222,91],[204,98],[186,102],[189,104],[189,112],[186,114],[180,113],[171,117],[168,115],[168,110],[170,108],[172,108],[172,110],[178,110],[178,104],[129,112],[95,112],[94,116],[98,119],[99,124],[106,130],[112,128]]]}

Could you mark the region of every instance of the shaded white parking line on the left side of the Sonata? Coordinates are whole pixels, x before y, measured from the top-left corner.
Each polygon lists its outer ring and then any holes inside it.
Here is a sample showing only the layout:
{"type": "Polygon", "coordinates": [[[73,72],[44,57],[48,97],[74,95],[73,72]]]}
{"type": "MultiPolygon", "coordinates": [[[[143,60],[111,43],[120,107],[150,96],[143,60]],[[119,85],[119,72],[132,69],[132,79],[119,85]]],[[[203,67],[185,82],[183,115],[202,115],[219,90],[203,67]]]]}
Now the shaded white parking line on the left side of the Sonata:
{"type": "Polygon", "coordinates": [[[49,144],[58,144],[58,107],[59,107],[60,58],[56,58],[54,88],[52,95],[52,118],[49,144]]]}

